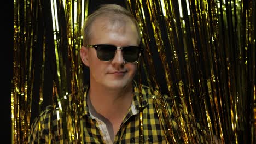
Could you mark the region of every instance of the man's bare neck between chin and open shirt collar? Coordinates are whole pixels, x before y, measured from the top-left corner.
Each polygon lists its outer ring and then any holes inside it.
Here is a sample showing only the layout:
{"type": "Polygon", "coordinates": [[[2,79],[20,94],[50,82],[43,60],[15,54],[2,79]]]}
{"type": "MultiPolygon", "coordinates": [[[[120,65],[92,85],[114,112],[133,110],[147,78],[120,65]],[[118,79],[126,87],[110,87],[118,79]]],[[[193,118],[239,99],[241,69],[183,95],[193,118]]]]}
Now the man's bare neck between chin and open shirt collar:
{"type": "MultiPolygon", "coordinates": [[[[92,84],[92,83],[91,83],[92,84]]],[[[90,85],[89,98],[97,113],[110,121],[124,116],[132,103],[132,83],[122,89],[109,89],[90,85]]]]}

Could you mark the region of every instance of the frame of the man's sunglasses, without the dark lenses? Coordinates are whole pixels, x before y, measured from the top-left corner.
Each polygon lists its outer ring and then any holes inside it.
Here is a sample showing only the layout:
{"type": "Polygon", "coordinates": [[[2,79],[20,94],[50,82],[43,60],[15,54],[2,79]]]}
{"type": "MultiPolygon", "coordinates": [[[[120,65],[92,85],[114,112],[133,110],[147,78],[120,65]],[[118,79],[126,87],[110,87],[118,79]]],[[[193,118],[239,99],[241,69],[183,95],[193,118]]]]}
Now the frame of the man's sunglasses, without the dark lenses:
{"type": "MultiPolygon", "coordinates": [[[[94,49],[97,51],[97,50],[98,50],[98,46],[100,46],[100,45],[109,45],[109,44],[85,45],[85,47],[94,48],[94,49]]],[[[109,46],[114,46],[114,47],[116,48],[116,49],[115,49],[115,53],[117,52],[118,49],[121,50],[121,51],[122,51],[122,56],[123,56],[123,59],[124,59],[125,62],[128,62],[128,61],[126,61],[126,59],[124,58],[124,51],[123,51],[123,49],[126,49],[126,48],[128,48],[128,47],[138,47],[138,48],[139,48],[139,56],[138,56],[137,60],[134,61],[134,62],[129,62],[129,63],[138,63],[138,59],[139,59],[139,57],[141,56],[141,53],[144,51],[144,49],[143,49],[142,47],[139,47],[139,46],[126,46],[126,47],[117,47],[117,46],[115,46],[115,45],[109,45],[109,46]]],[[[113,58],[115,57],[115,53],[114,53],[113,58]]],[[[97,57],[98,57],[98,55],[97,55],[97,57]]],[[[112,58],[112,59],[113,59],[113,58],[112,58]]],[[[100,58],[98,58],[98,59],[100,59],[100,58]]],[[[112,59],[106,60],[106,61],[111,61],[112,59]]],[[[101,59],[100,59],[100,60],[101,60],[101,59]]],[[[101,61],[104,61],[104,60],[101,60],[101,61]]]]}

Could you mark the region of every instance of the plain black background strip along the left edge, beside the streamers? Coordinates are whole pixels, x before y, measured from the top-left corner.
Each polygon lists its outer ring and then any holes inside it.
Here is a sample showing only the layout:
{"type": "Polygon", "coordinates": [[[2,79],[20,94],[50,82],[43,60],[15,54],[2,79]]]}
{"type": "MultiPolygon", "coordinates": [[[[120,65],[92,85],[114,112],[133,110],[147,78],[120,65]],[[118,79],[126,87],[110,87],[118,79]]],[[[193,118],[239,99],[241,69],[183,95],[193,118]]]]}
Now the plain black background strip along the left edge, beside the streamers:
{"type": "Polygon", "coordinates": [[[13,1],[1,8],[1,142],[11,143],[11,79],[13,76],[13,1]]]}

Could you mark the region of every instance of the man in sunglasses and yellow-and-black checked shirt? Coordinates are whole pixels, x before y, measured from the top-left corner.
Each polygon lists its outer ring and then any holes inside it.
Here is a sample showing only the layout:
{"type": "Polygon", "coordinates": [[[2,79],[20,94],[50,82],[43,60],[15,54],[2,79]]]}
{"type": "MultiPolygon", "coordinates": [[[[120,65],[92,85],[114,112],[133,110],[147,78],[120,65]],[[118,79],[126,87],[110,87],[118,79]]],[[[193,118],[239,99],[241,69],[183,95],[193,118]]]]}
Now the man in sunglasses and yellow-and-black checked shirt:
{"type": "MultiPolygon", "coordinates": [[[[139,47],[141,37],[137,21],[119,5],[102,5],[86,19],[83,38],[80,57],[90,68],[90,83],[85,88],[82,113],[83,142],[139,143],[143,139],[145,143],[167,143],[150,89],[142,86],[139,90],[133,81],[143,52],[139,47]],[[139,98],[140,91],[142,98],[139,98]],[[140,107],[142,138],[139,136],[140,107]]],[[[29,143],[66,143],[63,132],[57,132],[63,131],[62,117],[58,120],[54,111],[49,119],[50,109],[32,124],[29,143]],[[55,136],[51,137],[50,121],[55,126],[52,129],[55,136]]],[[[177,129],[174,121],[173,125],[177,129]]]]}

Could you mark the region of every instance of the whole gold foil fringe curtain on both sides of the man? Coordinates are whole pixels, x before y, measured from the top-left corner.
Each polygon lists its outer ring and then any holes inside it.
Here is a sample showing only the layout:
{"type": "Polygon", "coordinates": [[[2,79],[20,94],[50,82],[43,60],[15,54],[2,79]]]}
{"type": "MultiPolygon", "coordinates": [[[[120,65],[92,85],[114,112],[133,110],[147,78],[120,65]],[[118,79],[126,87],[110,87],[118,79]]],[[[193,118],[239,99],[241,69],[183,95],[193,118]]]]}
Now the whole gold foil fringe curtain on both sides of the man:
{"type": "MultiPolygon", "coordinates": [[[[209,141],[216,135],[225,143],[255,143],[256,2],[125,2],[142,28],[146,51],[141,75],[156,89],[153,98],[158,112],[164,114],[159,116],[167,125],[166,140],[177,142],[178,135],[165,109],[167,101],[156,96],[164,93],[172,99],[185,143],[200,143],[202,133],[191,132],[195,122],[209,141]],[[179,104],[185,117],[181,117],[179,104]]],[[[59,111],[65,113],[67,142],[83,142],[79,123],[83,77],[78,53],[88,3],[14,1],[13,143],[27,142],[33,106],[39,112],[45,101],[57,101],[59,111]],[[50,62],[54,64],[49,66],[50,62]],[[46,87],[51,92],[45,92],[46,87]],[[45,96],[49,93],[50,100],[45,96]],[[68,97],[72,97],[70,104],[68,97]]],[[[141,135],[142,129],[143,125],[141,135]]]]}

